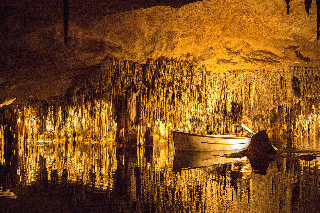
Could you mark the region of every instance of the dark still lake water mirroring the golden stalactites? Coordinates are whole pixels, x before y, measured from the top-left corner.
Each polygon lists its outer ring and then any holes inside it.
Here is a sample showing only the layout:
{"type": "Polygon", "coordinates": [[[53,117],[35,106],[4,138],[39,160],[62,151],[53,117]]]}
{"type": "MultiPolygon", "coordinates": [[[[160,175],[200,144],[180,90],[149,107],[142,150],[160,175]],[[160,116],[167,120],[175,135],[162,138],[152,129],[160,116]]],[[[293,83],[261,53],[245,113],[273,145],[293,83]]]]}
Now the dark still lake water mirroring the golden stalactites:
{"type": "Polygon", "coordinates": [[[278,154],[252,162],[161,143],[0,146],[0,212],[319,212],[320,157],[298,157],[320,140],[271,141],[278,154]]]}

